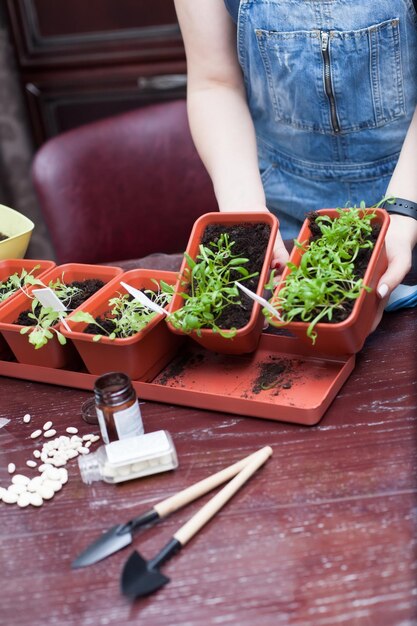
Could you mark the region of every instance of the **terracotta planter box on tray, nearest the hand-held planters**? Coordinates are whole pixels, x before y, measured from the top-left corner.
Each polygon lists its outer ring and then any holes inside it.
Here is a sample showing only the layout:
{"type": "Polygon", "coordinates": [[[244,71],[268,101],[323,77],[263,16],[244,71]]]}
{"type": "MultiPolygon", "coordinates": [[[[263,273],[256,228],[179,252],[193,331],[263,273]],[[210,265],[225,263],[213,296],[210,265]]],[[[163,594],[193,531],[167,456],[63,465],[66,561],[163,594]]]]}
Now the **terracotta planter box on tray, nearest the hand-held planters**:
{"type": "MultiPolygon", "coordinates": [[[[89,299],[88,305],[80,307],[94,318],[102,317],[110,310],[109,300],[126,290],[120,281],[136,289],[155,289],[152,279],[164,280],[173,285],[175,272],[137,269],[124,273],[117,281],[107,285],[89,299]]],[[[84,322],[74,322],[67,318],[72,332],[61,327],[62,333],[70,338],[77,348],[90,374],[104,374],[109,371],[121,371],[135,380],[151,380],[157,372],[172,358],[178,349],[181,338],[170,333],[163,315],[156,314],[149,324],[132,337],[109,339],[102,336],[100,341],[93,341],[94,335],[84,333],[84,322]]]]}

